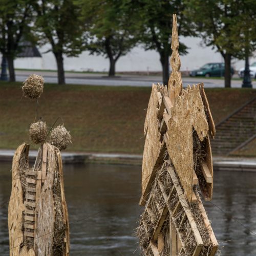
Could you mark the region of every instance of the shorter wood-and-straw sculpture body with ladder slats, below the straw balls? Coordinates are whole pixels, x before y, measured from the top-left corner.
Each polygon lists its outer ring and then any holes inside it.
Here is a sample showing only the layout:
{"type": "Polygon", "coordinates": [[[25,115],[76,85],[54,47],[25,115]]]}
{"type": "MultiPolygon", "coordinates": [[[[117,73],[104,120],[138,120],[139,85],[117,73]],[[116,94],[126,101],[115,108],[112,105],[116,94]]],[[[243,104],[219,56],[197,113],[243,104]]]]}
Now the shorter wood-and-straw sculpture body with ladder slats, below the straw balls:
{"type": "Polygon", "coordinates": [[[8,207],[10,255],[69,255],[68,209],[59,150],[49,143],[38,151],[32,169],[29,145],[13,157],[8,207]]]}

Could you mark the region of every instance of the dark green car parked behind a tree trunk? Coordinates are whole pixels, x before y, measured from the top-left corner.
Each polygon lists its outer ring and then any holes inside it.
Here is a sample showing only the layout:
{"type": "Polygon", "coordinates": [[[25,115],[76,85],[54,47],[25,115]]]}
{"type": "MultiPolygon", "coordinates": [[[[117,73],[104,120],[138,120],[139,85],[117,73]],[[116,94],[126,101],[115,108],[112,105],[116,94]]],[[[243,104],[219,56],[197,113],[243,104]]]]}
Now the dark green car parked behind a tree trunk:
{"type": "MultiPolygon", "coordinates": [[[[233,75],[234,70],[231,68],[231,74],[233,75]]],[[[207,63],[198,70],[193,70],[189,73],[189,76],[224,76],[225,65],[224,63],[207,63]]]]}

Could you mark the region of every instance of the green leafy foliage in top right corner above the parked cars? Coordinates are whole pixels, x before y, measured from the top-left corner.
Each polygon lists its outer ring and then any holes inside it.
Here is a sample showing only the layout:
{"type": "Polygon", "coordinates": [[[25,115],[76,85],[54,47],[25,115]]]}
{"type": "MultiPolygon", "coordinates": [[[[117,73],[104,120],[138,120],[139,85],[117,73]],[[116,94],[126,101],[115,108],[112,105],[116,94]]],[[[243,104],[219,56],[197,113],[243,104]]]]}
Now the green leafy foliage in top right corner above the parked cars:
{"type": "Polygon", "coordinates": [[[225,54],[241,57],[248,42],[250,51],[255,50],[254,0],[185,0],[185,3],[185,15],[196,25],[206,46],[217,47],[223,57],[225,54]],[[246,34],[249,40],[245,39],[246,34]]]}

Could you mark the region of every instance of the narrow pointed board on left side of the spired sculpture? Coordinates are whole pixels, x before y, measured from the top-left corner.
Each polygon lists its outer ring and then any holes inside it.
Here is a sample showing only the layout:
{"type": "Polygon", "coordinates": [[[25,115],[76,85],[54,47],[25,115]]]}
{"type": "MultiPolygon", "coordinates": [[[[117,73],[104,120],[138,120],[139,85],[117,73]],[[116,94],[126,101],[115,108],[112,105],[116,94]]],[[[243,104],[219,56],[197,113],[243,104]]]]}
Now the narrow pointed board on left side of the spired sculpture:
{"type": "Polygon", "coordinates": [[[142,161],[142,194],[147,187],[150,180],[151,173],[153,172],[155,163],[161,150],[159,120],[158,120],[158,96],[157,85],[152,85],[152,92],[146,113],[144,124],[145,145],[142,161]]]}

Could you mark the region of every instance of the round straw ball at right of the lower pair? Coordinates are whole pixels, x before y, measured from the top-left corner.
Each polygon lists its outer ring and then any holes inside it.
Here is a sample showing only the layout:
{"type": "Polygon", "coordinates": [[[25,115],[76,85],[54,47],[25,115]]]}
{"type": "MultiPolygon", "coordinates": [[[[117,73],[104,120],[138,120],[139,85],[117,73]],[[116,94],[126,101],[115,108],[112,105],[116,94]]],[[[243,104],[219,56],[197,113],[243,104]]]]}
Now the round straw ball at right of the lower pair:
{"type": "Polygon", "coordinates": [[[71,135],[69,131],[62,125],[58,125],[51,132],[51,143],[60,151],[65,150],[71,143],[71,135]]]}

